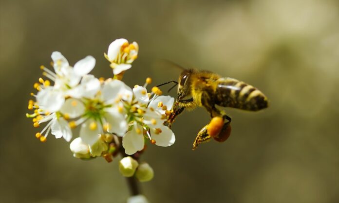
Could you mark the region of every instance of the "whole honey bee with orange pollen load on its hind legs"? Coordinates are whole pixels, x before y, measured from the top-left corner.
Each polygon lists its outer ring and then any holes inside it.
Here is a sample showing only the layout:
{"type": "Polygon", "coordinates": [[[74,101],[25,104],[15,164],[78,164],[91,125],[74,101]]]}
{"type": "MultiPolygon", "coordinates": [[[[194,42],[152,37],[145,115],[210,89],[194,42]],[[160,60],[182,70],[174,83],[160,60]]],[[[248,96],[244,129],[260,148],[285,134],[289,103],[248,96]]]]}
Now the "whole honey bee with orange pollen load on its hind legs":
{"type": "Polygon", "coordinates": [[[231,118],[224,111],[219,110],[216,105],[247,111],[259,111],[268,106],[266,96],[252,85],[233,78],[224,78],[206,70],[185,69],[180,74],[178,82],[170,82],[178,85],[178,91],[177,99],[172,110],[168,113],[165,125],[170,128],[175,118],[185,108],[205,107],[212,118],[196,136],[193,150],[200,143],[207,142],[211,138],[218,142],[224,142],[230,135],[231,118]]]}

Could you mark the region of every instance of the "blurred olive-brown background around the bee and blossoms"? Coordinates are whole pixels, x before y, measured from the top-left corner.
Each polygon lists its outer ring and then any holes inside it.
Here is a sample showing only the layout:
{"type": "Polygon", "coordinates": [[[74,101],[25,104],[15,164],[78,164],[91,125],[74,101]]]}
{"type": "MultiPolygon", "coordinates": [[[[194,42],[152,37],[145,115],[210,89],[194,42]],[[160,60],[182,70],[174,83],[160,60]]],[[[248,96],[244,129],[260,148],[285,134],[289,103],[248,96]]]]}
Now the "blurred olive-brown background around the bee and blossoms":
{"type": "Polygon", "coordinates": [[[0,0],[0,202],[126,201],[118,160],[76,159],[52,135],[40,143],[25,117],[52,51],[71,65],[93,55],[92,73],[109,77],[103,53],[123,37],[140,46],[130,86],[177,80],[179,69],[157,63],[169,59],[245,81],[270,100],[258,113],[226,109],[232,135],[194,152],[209,114],[184,112],[175,144],[142,157],[155,171],[142,184],[150,202],[338,203],[338,22],[336,0],[0,0]]]}

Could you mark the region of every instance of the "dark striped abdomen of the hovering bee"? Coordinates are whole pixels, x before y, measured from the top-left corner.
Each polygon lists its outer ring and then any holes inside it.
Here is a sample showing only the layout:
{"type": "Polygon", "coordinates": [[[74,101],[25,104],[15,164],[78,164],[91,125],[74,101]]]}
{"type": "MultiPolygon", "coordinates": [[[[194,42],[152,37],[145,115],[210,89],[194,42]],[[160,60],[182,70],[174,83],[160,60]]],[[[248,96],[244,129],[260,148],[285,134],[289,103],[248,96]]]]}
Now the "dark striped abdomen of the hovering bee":
{"type": "Polygon", "coordinates": [[[248,111],[267,107],[266,96],[252,85],[233,78],[220,78],[215,91],[215,104],[248,111]]]}

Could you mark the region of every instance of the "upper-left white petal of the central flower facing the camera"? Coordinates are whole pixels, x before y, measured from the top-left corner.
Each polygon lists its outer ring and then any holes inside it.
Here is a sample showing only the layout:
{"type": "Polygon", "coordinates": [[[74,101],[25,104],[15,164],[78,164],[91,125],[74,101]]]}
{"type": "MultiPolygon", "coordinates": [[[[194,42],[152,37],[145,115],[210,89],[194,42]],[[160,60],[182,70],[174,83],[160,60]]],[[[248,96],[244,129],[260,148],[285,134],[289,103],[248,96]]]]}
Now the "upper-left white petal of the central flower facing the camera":
{"type": "Polygon", "coordinates": [[[85,98],[94,98],[100,90],[100,81],[94,75],[83,76],[80,85],[83,86],[82,96],[85,98]]]}

